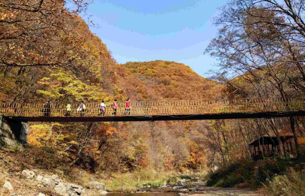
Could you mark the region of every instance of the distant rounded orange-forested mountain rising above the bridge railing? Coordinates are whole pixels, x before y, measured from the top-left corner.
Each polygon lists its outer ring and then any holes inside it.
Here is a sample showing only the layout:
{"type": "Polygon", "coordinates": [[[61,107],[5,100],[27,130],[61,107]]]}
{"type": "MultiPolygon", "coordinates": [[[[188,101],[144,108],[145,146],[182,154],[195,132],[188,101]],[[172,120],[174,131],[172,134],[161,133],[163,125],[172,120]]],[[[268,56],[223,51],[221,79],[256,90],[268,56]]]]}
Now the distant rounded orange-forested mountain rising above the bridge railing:
{"type": "Polygon", "coordinates": [[[132,100],[216,99],[221,85],[172,61],[128,62],[118,65],[120,87],[132,100]]]}

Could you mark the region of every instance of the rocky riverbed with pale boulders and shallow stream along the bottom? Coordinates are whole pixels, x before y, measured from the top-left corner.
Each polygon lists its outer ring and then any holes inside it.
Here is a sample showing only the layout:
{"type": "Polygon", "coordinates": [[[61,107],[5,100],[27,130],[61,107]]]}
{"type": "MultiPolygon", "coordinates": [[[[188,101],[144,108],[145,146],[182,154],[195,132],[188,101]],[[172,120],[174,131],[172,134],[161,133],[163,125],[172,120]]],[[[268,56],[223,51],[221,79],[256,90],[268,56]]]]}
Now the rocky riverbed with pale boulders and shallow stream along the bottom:
{"type": "MultiPolygon", "coordinates": [[[[4,177],[4,176],[3,176],[4,177]]],[[[181,179],[175,184],[143,185],[142,188],[130,190],[106,190],[105,184],[91,181],[87,188],[64,182],[58,175],[44,175],[35,170],[23,170],[20,173],[5,176],[0,196],[258,196],[249,189],[206,187],[206,182],[199,178],[181,179]],[[35,173],[36,172],[36,173],[35,173]],[[16,178],[19,176],[19,178],[16,178]],[[20,194],[21,193],[21,194],[20,194]]]]}

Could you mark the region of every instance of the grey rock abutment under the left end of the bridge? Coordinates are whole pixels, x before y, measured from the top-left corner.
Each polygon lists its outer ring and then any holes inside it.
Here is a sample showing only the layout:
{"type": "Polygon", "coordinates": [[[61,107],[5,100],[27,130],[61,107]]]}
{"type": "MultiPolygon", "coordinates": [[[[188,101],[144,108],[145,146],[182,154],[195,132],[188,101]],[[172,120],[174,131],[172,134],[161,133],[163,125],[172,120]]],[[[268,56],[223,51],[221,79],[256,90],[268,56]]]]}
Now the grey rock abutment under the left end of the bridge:
{"type": "Polygon", "coordinates": [[[0,115],[0,146],[21,146],[27,142],[29,124],[13,121],[0,115]]]}

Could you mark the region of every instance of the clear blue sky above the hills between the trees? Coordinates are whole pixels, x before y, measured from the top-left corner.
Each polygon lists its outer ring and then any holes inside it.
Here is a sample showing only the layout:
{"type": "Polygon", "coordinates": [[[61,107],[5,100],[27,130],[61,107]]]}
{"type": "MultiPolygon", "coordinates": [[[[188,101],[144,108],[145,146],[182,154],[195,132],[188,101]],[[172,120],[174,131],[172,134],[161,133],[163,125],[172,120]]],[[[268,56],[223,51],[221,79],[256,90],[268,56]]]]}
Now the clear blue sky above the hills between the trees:
{"type": "MultiPolygon", "coordinates": [[[[215,59],[204,49],[215,36],[212,18],[226,0],[95,0],[87,13],[118,63],[166,60],[207,76],[215,59]]],[[[85,20],[87,16],[83,17],[85,20]]]]}

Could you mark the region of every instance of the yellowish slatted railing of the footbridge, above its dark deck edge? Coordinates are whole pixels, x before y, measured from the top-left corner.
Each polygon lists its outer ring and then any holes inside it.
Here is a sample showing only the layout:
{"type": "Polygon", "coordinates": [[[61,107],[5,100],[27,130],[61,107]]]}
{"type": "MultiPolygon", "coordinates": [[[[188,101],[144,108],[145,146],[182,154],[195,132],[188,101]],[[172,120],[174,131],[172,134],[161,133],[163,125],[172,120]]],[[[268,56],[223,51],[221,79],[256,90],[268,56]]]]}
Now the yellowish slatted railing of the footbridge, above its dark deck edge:
{"type": "MultiPolygon", "coordinates": [[[[104,116],[111,116],[111,103],[104,116]]],[[[179,100],[179,101],[134,101],[131,103],[132,116],[153,115],[196,115],[196,114],[229,114],[254,112],[283,112],[305,110],[305,97],[297,96],[283,100],[280,97],[253,99],[221,99],[221,100],[179,100]]],[[[84,103],[86,110],[83,116],[94,117],[101,114],[100,103],[84,103]]],[[[80,116],[77,112],[80,103],[72,103],[70,116],[80,116]]],[[[66,104],[51,103],[49,116],[64,117],[66,104]]],[[[0,114],[5,116],[37,117],[44,116],[43,103],[0,103],[0,114]]],[[[125,102],[118,102],[117,116],[128,115],[125,102]]]]}

